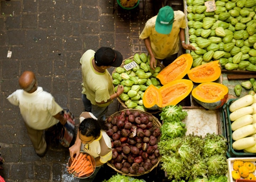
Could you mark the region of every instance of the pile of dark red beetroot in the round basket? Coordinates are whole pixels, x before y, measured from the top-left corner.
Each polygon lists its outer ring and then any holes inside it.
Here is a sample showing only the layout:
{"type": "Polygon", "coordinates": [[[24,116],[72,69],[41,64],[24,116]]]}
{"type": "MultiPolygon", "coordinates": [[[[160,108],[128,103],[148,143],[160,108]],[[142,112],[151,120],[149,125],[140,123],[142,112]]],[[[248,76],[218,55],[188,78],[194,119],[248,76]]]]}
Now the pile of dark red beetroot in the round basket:
{"type": "Polygon", "coordinates": [[[143,175],[159,160],[157,143],[161,131],[153,126],[153,116],[126,109],[107,118],[107,134],[112,143],[112,163],[117,170],[143,175]]]}

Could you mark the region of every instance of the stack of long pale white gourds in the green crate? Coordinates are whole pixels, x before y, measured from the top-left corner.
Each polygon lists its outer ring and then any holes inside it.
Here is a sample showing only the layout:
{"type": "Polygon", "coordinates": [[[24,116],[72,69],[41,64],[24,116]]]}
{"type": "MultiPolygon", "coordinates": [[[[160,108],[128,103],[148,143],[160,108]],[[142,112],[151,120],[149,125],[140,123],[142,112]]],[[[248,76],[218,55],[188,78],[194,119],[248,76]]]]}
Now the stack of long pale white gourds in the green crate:
{"type": "Polygon", "coordinates": [[[256,94],[246,95],[231,103],[229,120],[232,122],[234,150],[256,153],[256,94]]]}

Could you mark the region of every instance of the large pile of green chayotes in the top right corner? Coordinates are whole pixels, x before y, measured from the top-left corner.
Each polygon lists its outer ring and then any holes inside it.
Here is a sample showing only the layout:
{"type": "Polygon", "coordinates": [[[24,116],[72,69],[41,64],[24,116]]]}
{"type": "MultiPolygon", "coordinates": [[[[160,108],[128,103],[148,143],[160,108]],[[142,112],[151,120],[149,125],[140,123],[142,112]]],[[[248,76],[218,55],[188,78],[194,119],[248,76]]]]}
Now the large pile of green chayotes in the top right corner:
{"type": "Polygon", "coordinates": [[[187,0],[193,67],[219,60],[226,70],[256,71],[255,0],[217,0],[206,12],[204,0],[187,0]]]}

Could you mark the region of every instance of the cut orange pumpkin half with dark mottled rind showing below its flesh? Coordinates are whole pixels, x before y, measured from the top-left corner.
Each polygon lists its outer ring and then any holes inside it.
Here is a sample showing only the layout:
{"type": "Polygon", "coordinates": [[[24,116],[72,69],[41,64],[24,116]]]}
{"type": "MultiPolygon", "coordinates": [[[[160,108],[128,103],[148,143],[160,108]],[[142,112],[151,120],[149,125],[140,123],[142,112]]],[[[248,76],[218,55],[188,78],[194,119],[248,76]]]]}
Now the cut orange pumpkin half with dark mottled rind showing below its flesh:
{"type": "Polygon", "coordinates": [[[206,82],[194,88],[192,96],[204,108],[218,109],[226,103],[228,87],[215,82],[206,82]]]}

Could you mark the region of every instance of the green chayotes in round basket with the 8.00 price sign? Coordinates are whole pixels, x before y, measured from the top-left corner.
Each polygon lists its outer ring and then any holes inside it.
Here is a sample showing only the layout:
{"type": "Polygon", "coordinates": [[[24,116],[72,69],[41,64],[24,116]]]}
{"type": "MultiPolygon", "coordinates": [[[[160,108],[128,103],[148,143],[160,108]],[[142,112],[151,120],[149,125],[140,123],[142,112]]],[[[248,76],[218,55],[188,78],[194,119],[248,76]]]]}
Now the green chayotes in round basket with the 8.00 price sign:
{"type": "MultiPolygon", "coordinates": [[[[126,70],[122,67],[117,67],[112,73],[113,85],[123,85],[124,93],[119,98],[128,108],[140,109],[146,111],[143,105],[144,91],[149,85],[154,85],[157,88],[161,87],[160,81],[156,78],[161,71],[161,67],[157,66],[155,70],[150,68],[150,57],[145,53],[134,54],[133,59],[126,59],[124,65],[135,61],[137,66],[133,69],[126,70]]],[[[117,89],[117,86],[115,87],[117,89]]]]}

